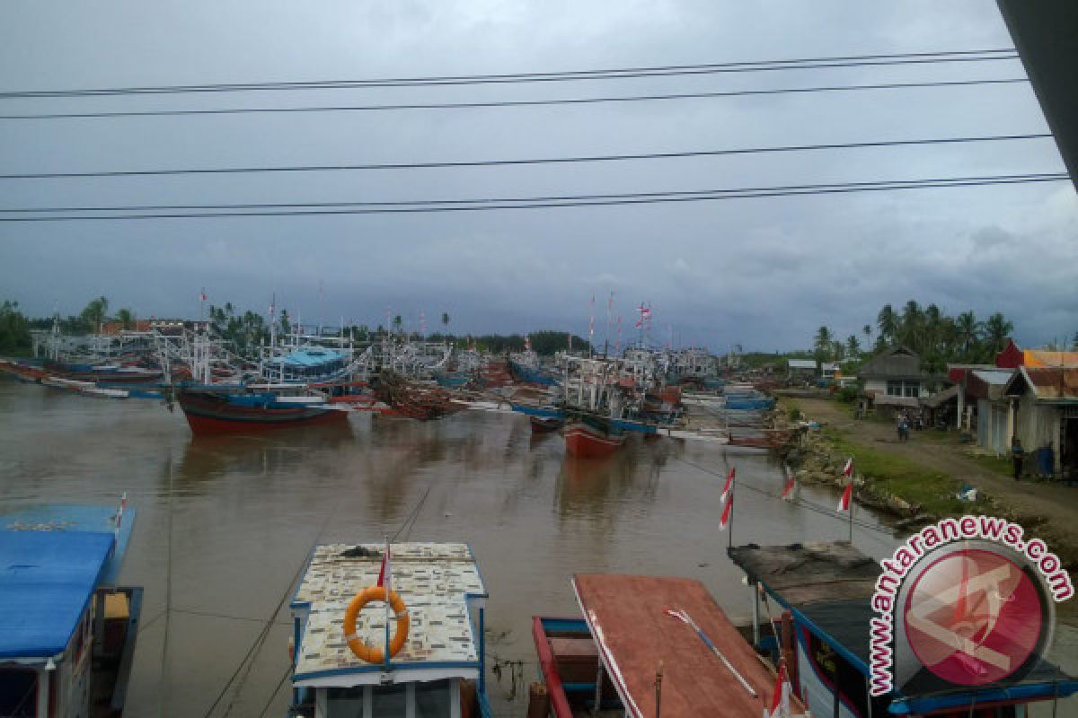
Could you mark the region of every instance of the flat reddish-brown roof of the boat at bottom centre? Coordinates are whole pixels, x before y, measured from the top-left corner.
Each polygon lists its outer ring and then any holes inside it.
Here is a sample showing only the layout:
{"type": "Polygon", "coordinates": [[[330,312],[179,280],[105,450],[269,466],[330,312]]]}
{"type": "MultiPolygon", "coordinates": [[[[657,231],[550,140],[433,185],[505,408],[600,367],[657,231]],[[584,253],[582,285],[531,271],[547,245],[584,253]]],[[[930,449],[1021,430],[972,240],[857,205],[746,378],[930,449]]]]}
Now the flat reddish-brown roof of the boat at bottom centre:
{"type": "MultiPolygon", "coordinates": [[[[662,714],[759,718],[775,677],[704,586],[661,576],[578,574],[572,588],[604,667],[627,716],[655,715],[655,672],[663,664],[662,714]],[[693,629],[668,616],[685,610],[752,686],[751,696],[693,629]]],[[[796,700],[794,700],[796,703],[796,700]]],[[[796,706],[794,714],[802,713],[796,706]]]]}

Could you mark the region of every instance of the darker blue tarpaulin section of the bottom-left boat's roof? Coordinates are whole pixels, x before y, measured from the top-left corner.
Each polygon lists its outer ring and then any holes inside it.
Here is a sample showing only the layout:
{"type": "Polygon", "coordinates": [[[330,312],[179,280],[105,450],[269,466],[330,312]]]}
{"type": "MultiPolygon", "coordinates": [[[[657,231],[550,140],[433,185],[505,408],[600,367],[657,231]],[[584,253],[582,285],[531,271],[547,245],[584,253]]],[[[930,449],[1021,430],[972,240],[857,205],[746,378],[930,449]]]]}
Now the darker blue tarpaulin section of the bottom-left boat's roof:
{"type": "Polygon", "coordinates": [[[115,536],[85,531],[0,531],[0,658],[63,651],[115,536]]]}

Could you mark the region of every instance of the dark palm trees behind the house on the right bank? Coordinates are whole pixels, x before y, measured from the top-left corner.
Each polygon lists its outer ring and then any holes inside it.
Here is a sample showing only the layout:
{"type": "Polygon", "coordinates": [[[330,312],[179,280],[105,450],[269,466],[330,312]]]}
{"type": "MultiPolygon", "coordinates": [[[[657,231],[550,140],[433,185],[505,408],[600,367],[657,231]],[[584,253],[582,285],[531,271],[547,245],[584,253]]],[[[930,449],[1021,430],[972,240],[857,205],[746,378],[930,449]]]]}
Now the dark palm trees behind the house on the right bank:
{"type": "MultiPolygon", "coordinates": [[[[860,336],[852,334],[843,340],[830,327],[820,326],[813,355],[824,362],[852,361],[903,344],[921,356],[926,371],[943,371],[949,363],[991,364],[1013,330],[1014,324],[1001,312],[982,321],[973,311],[952,316],[938,305],[922,307],[910,299],[897,310],[884,305],[876,313],[875,326],[866,324],[860,336]]],[[[1078,343],[1078,335],[1075,341],[1078,343]]]]}

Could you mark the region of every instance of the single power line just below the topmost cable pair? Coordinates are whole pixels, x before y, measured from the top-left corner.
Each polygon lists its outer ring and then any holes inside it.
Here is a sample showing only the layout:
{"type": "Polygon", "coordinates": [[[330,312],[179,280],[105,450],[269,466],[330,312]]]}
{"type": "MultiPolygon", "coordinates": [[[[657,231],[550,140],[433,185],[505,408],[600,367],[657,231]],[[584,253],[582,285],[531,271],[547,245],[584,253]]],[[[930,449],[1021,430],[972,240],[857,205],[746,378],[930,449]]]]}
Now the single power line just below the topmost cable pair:
{"type": "Polygon", "coordinates": [[[996,80],[955,80],[937,82],[879,83],[870,85],[820,85],[815,87],[780,87],[774,89],[737,89],[718,93],[675,93],[669,95],[631,95],[622,97],[581,97],[549,100],[495,100],[486,102],[418,102],[399,104],[354,104],[299,108],[224,108],[215,110],[126,110],[114,112],[51,112],[38,114],[0,115],[0,119],[86,119],[115,117],[161,117],[188,115],[234,115],[308,112],[377,112],[386,110],[475,110],[484,108],[521,108],[555,104],[598,104],[609,102],[650,102],[664,100],[714,99],[764,95],[854,91],[862,89],[910,89],[925,87],[963,87],[971,85],[1008,85],[1028,83],[1026,78],[996,80]]]}

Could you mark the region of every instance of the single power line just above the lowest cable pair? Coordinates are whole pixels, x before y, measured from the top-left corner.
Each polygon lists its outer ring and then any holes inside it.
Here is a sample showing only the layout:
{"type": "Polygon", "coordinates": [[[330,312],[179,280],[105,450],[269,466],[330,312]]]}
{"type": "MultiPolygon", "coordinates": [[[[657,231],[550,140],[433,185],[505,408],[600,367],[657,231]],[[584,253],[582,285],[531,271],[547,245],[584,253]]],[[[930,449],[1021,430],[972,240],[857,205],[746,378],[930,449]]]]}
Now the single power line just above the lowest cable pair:
{"type": "Polygon", "coordinates": [[[585,155],[575,157],[541,157],[525,159],[475,159],[430,163],[384,163],[368,165],[300,165],[293,167],[221,167],[160,170],[106,170],[98,172],[38,172],[0,174],[0,180],[53,180],[98,177],[155,177],[168,174],[240,174],[258,172],[327,172],[357,170],[411,170],[447,169],[457,167],[506,167],[515,165],[557,165],[572,163],[624,161],[637,159],[677,159],[683,157],[720,157],[779,152],[810,152],[819,150],[857,150],[869,147],[896,147],[922,144],[959,144],[968,142],[1000,142],[1011,140],[1039,140],[1051,138],[1048,132],[1028,135],[996,135],[990,137],[949,137],[913,140],[880,140],[875,142],[835,142],[826,144],[791,144],[770,147],[732,147],[728,150],[694,150],[687,152],[655,152],[619,155],[585,155]]]}

